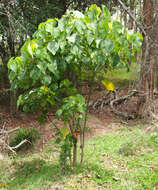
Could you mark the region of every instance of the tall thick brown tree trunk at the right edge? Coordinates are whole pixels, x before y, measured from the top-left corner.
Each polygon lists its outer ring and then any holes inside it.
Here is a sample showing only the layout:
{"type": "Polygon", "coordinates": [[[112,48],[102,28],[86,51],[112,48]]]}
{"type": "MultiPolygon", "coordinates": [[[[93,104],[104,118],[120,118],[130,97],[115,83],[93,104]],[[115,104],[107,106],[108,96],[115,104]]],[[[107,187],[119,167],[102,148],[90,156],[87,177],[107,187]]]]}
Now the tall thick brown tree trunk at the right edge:
{"type": "Polygon", "coordinates": [[[158,2],[143,1],[144,40],[142,45],[142,63],[140,74],[140,89],[146,94],[138,101],[139,116],[153,116],[153,101],[155,89],[155,73],[157,71],[158,2]]]}

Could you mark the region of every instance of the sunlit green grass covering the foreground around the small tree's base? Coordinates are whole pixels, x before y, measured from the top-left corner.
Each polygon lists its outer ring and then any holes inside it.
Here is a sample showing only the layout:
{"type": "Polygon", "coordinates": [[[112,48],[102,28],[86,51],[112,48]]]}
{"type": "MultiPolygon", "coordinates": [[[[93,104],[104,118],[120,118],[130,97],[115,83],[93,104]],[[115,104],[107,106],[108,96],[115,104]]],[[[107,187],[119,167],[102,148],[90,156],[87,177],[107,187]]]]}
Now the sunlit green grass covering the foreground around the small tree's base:
{"type": "MultiPolygon", "coordinates": [[[[8,158],[0,170],[7,190],[154,190],[158,187],[158,131],[121,127],[87,139],[85,162],[64,174],[50,141],[43,152],[8,158]],[[5,163],[6,162],[6,163],[5,163]]],[[[1,167],[1,165],[0,165],[1,167]]]]}

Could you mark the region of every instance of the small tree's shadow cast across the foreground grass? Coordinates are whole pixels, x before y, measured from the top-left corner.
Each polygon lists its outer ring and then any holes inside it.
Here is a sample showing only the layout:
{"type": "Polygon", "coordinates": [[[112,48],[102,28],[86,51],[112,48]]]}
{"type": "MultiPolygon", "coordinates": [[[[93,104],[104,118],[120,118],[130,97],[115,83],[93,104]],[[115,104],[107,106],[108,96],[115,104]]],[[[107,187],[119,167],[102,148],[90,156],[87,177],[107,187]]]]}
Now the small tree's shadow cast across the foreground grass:
{"type": "Polygon", "coordinates": [[[110,171],[100,172],[101,168],[98,165],[87,164],[82,167],[77,166],[73,170],[68,169],[63,173],[57,162],[52,164],[52,162],[36,159],[19,164],[14,173],[8,178],[9,182],[6,188],[8,190],[46,190],[52,184],[62,184],[64,178],[68,180],[72,175],[88,174],[93,173],[93,171],[95,171],[95,176],[91,180],[94,182],[102,181],[103,178],[108,180],[113,175],[110,171]]]}

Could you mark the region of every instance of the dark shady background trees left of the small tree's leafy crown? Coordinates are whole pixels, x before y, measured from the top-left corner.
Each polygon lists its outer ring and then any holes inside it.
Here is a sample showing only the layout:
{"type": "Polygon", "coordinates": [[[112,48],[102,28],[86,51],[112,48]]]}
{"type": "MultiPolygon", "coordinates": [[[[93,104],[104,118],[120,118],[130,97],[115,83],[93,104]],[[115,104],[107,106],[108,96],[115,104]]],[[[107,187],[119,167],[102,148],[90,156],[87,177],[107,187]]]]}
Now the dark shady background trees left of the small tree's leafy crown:
{"type": "MultiPolygon", "coordinates": [[[[26,38],[50,17],[60,17],[66,11],[65,1],[2,0],[0,2],[0,84],[9,88],[7,62],[19,54],[26,38]]],[[[16,92],[10,94],[11,113],[16,112],[16,92]]]]}

